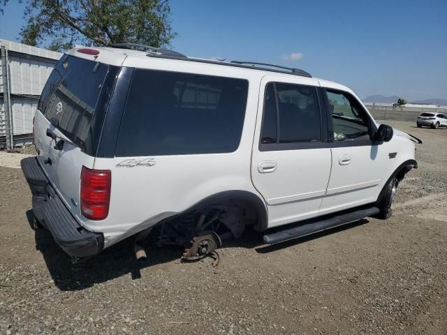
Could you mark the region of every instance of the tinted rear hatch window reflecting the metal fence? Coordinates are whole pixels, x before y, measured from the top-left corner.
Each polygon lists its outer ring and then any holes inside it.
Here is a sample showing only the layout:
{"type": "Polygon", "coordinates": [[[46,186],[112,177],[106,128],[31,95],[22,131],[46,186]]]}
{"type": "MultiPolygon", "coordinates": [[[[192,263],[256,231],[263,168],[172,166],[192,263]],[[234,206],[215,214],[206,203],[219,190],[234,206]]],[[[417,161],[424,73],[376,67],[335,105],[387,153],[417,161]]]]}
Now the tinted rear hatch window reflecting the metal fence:
{"type": "Polygon", "coordinates": [[[116,72],[116,67],[69,56],[59,61],[41,94],[39,110],[91,156],[96,152],[116,72]]]}

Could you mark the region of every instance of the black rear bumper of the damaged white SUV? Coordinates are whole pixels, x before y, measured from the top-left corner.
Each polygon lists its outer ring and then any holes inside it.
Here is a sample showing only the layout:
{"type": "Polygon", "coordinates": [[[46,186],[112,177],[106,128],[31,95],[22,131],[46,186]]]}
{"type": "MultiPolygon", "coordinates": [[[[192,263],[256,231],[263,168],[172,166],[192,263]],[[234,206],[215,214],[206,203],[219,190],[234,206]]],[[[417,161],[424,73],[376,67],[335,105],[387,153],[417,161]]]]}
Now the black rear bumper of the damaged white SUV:
{"type": "Polygon", "coordinates": [[[33,211],[38,221],[50,230],[54,241],[73,257],[89,257],[104,248],[101,233],[85,230],[68,211],[38,164],[36,157],[20,162],[33,195],[33,211]]]}

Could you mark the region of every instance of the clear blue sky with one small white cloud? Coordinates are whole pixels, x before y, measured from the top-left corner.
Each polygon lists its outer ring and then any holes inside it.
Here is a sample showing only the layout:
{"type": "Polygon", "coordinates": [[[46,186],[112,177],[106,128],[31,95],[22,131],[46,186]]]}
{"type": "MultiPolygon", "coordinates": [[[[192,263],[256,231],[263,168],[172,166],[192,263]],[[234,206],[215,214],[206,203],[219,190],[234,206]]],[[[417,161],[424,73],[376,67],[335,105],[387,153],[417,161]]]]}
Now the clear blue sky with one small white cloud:
{"type": "MultiPolygon", "coordinates": [[[[372,94],[447,99],[447,0],[172,0],[173,49],[307,70],[372,94]]],[[[16,40],[10,0],[0,38],[16,40]]]]}

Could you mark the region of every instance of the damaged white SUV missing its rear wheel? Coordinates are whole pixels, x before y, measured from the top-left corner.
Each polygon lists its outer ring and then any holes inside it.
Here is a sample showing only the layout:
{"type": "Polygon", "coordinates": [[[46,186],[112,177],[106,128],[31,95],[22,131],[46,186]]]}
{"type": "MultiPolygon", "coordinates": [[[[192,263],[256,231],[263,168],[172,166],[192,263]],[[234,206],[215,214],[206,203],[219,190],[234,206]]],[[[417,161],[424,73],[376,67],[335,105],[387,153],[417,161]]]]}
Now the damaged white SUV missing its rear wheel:
{"type": "Polygon", "coordinates": [[[420,142],[305,71],[139,45],[64,54],[34,135],[35,225],[73,261],[133,235],[137,258],[149,234],[200,258],[250,225],[272,244],[387,218],[420,142]]]}

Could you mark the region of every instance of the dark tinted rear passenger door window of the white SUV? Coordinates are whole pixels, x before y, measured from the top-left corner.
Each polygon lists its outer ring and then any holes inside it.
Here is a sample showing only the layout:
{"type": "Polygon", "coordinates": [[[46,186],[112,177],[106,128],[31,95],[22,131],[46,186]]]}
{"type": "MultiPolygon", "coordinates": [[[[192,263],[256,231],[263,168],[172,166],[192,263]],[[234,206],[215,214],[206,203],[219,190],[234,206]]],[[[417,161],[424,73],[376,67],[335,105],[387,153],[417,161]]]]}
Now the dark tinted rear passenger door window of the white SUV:
{"type": "Polygon", "coordinates": [[[268,84],[261,144],[312,141],[321,141],[321,116],[316,88],[296,84],[268,84]]]}

